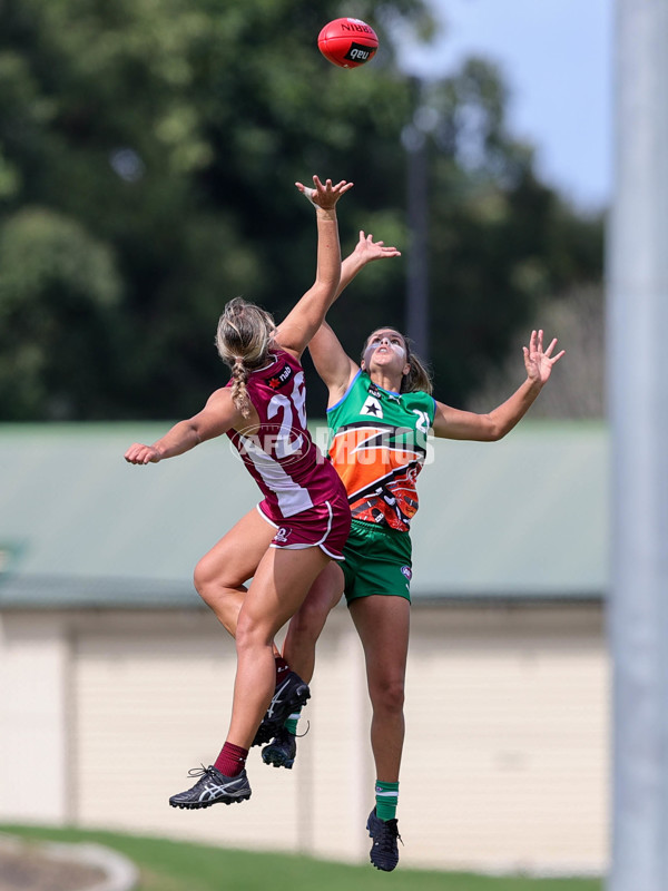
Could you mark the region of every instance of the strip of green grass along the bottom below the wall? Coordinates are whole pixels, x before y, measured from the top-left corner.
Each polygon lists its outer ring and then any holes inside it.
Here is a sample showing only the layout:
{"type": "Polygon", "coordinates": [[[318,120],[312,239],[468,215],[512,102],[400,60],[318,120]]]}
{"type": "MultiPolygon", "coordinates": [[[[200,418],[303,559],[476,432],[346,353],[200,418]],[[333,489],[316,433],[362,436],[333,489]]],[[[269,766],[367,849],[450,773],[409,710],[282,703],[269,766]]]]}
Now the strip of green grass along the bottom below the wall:
{"type": "Polygon", "coordinates": [[[129,858],[140,870],[137,891],[601,891],[597,879],[530,879],[410,870],[381,873],[371,865],[350,866],[274,853],[249,853],[203,844],[36,826],[0,825],[24,839],[95,842],[129,858]]]}

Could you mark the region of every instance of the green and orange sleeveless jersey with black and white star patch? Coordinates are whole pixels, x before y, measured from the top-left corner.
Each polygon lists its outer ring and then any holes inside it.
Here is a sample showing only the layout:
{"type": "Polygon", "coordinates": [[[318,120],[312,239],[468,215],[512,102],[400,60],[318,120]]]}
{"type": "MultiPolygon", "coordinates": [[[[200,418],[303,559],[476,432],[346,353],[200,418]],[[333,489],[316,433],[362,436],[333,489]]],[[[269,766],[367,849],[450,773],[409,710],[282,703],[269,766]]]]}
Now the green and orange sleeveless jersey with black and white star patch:
{"type": "Polygon", "coordinates": [[[434,413],[429,393],[383,390],[363,371],[327,410],[330,457],[354,520],[409,531],[434,413]]]}

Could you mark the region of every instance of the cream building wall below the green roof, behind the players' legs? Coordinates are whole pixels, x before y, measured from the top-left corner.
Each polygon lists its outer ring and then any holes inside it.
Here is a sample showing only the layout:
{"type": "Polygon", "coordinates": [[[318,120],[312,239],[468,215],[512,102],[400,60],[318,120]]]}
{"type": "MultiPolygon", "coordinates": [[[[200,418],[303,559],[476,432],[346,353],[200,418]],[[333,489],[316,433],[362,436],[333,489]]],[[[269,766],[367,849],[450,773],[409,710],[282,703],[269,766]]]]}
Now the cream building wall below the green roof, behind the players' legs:
{"type": "MultiPolygon", "coordinates": [[[[320,642],[294,770],[255,748],[249,802],[168,806],[218,753],[234,670],[208,613],[4,613],[0,820],[365,861],[370,711],[344,607],[320,642]]],[[[598,606],[414,607],[402,863],[605,871],[608,673],[598,606]]]]}

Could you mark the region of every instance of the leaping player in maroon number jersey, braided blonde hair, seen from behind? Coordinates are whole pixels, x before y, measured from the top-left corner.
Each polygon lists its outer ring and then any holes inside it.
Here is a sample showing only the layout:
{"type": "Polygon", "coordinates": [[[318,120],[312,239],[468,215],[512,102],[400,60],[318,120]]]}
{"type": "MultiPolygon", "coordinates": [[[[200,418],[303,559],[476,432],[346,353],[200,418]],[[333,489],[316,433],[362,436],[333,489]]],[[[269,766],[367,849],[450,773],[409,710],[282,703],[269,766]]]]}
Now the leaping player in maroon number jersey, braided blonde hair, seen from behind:
{"type": "MultiPolygon", "coordinates": [[[[190,771],[195,785],[169,799],[174,807],[199,809],[250,797],[245,763],[265,713],[281,726],[310,696],[308,686],[282,660],[274,636],[304,600],[330,560],[343,559],[351,526],[344,486],[306,428],[304,371],[299,363],[333,303],[341,277],[336,203],[352,183],[313,177],[316,208],[315,282],[281,325],[264,310],[237,297],[218,322],[216,345],[232,369],[228,384],[204,409],[175,424],[153,446],[135,443],[132,464],[157,463],[226,433],[264,499],[199,561],[197,590],[235,635],[237,672],[225,745],[213,765],[190,771]],[[247,561],[250,578],[225,585],[229,552],[247,561]],[[252,571],[250,571],[252,570],[252,571]],[[283,676],[281,674],[283,673],[283,676]]],[[[304,189],[302,184],[297,187],[304,189]]]]}

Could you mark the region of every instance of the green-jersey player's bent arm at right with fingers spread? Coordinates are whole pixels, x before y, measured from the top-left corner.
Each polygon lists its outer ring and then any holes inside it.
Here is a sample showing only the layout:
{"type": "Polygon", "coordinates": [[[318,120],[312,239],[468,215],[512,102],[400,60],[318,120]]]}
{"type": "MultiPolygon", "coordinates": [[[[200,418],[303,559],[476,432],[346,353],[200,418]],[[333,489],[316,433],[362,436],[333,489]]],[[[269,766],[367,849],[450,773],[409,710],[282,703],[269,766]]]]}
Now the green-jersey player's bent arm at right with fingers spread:
{"type": "Polygon", "coordinates": [[[552,366],[564,354],[564,350],[552,355],[557,337],[543,351],[542,331],[532,331],[529,346],[523,346],[527,380],[498,408],[489,414],[460,411],[436,402],[434,434],[445,439],[468,439],[494,442],[502,439],[524,417],[529,408],[548,382],[552,366]]]}

